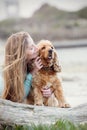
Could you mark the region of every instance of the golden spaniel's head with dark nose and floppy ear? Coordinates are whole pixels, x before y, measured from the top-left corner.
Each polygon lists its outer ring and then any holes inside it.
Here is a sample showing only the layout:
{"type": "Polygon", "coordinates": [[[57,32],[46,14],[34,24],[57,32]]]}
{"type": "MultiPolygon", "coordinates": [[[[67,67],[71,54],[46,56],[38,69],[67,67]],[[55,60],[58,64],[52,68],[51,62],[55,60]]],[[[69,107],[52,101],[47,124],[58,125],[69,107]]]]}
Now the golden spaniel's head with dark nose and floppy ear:
{"type": "Polygon", "coordinates": [[[43,66],[52,67],[54,71],[60,72],[61,67],[59,66],[57,53],[53,44],[48,40],[41,40],[37,44],[37,47],[43,66]]]}

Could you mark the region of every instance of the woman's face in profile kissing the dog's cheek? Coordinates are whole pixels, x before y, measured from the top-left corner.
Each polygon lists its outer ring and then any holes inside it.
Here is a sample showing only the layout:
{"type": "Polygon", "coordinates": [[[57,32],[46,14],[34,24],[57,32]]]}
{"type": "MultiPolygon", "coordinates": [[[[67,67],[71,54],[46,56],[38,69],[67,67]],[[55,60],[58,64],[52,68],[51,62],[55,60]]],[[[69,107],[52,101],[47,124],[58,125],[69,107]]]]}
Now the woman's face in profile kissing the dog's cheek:
{"type": "Polygon", "coordinates": [[[28,45],[26,48],[26,59],[30,61],[31,59],[34,59],[38,56],[38,48],[33,42],[31,37],[29,37],[27,41],[28,41],[28,45]]]}

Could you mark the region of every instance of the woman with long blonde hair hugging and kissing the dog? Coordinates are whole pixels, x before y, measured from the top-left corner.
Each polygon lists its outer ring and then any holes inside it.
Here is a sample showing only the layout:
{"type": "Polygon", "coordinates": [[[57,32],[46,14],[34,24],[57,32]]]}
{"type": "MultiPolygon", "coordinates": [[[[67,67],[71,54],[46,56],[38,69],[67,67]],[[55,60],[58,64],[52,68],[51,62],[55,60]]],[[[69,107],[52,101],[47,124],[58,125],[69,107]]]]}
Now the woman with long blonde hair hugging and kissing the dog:
{"type": "MultiPolygon", "coordinates": [[[[29,95],[33,75],[43,67],[38,48],[27,32],[12,34],[5,47],[4,91],[2,98],[23,102],[29,95]],[[32,59],[34,67],[31,69],[32,59]]],[[[43,90],[49,97],[51,90],[43,90]]]]}

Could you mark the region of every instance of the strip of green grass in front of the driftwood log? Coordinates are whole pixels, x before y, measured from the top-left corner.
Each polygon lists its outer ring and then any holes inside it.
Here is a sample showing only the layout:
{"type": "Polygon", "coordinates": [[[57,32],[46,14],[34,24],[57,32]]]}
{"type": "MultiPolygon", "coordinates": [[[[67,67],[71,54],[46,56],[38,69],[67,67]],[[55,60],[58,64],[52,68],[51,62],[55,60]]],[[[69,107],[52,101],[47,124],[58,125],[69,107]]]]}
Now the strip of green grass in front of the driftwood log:
{"type": "Polygon", "coordinates": [[[75,125],[67,120],[59,120],[55,124],[51,125],[42,125],[42,124],[39,125],[32,124],[30,126],[2,125],[1,127],[2,128],[0,128],[0,130],[87,130],[87,124],[75,125]]]}

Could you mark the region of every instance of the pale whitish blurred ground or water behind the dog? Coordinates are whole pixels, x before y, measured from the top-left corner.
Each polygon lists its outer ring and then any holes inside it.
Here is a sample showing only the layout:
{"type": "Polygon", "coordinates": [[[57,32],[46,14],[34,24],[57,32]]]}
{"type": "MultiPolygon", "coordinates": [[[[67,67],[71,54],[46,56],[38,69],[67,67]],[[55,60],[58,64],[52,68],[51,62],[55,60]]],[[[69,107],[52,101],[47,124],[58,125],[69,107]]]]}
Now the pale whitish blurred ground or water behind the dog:
{"type": "MultiPolygon", "coordinates": [[[[57,49],[57,54],[59,63],[62,66],[60,77],[62,77],[62,86],[67,102],[69,102],[72,107],[86,103],[87,48],[57,49]]],[[[0,58],[0,60],[3,61],[3,53],[1,53],[0,58]]],[[[0,93],[2,93],[3,90],[3,79],[0,75],[0,81],[1,80],[0,93]]]]}

